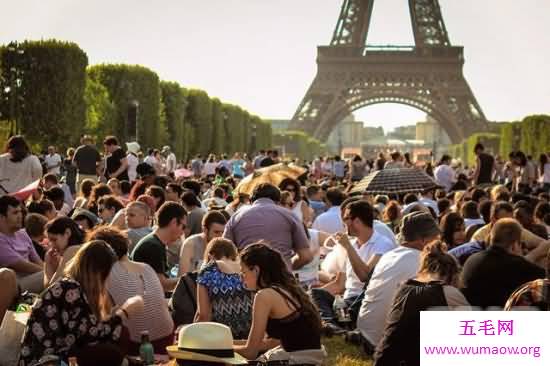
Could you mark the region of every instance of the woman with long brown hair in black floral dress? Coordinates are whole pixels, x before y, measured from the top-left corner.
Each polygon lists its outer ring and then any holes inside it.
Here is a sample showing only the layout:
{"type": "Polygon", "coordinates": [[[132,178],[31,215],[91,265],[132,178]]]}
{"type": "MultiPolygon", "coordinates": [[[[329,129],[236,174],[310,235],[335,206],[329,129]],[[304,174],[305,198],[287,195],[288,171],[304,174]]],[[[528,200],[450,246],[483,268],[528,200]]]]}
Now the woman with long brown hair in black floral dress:
{"type": "Polygon", "coordinates": [[[82,246],[65,277],[34,304],[18,365],[31,366],[51,354],[65,362],[76,356],[81,365],[120,365],[123,354],[115,344],[122,321],[142,311],[143,299],[130,298],[112,311],[105,282],[115,262],[113,249],[104,241],[82,246]]]}

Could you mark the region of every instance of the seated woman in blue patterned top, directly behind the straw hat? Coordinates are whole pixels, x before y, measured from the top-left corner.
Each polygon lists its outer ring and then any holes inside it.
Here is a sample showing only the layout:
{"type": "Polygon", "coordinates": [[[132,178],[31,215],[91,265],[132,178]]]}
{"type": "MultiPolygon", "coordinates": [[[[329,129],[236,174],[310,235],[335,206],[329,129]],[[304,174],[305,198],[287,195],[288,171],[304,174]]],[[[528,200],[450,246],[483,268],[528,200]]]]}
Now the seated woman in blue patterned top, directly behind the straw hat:
{"type": "Polygon", "coordinates": [[[245,339],[250,332],[252,292],[241,280],[237,247],[227,239],[213,239],[204,259],[197,277],[195,321],[225,324],[235,339],[245,339]]]}

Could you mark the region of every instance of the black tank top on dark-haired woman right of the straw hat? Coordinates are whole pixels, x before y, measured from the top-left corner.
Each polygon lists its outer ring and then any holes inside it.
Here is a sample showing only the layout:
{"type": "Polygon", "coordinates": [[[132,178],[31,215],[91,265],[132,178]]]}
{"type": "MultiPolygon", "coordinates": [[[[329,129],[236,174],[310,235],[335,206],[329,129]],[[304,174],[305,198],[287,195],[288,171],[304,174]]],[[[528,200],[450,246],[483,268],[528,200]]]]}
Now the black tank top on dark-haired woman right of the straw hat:
{"type": "Polygon", "coordinates": [[[281,341],[281,346],[287,352],[321,348],[321,331],[319,327],[312,327],[302,311],[302,307],[284,291],[272,287],[289,305],[296,310],[284,318],[267,321],[266,332],[271,338],[281,341]],[[317,330],[316,330],[317,329],[317,330]]]}

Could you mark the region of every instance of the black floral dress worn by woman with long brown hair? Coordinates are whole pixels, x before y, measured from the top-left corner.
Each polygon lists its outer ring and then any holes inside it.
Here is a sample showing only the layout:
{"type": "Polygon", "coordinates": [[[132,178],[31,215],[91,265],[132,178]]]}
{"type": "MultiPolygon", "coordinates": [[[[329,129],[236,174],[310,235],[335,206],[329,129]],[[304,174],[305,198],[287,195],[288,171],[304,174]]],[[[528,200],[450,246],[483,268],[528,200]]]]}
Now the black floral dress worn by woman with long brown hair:
{"type": "Polygon", "coordinates": [[[19,366],[30,366],[42,356],[67,360],[74,347],[101,341],[118,341],[122,319],[100,321],[92,312],[80,284],[64,278],[37,300],[27,322],[19,366]]]}

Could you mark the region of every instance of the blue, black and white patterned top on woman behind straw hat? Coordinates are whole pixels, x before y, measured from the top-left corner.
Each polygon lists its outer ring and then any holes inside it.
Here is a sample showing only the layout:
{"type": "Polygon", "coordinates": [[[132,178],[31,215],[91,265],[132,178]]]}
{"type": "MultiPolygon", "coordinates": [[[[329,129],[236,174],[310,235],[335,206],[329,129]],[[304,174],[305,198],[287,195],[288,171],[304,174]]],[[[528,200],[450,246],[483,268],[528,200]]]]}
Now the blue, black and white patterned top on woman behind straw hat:
{"type": "Polygon", "coordinates": [[[197,284],[206,287],[212,304],[212,321],[231,328],[234,339],[247,339],[252,320],[252,293],[238,273],[224,273],[215,261],[199,272],[197,284]]]}

